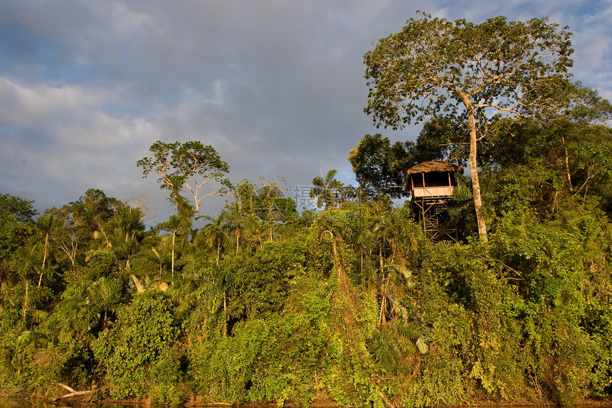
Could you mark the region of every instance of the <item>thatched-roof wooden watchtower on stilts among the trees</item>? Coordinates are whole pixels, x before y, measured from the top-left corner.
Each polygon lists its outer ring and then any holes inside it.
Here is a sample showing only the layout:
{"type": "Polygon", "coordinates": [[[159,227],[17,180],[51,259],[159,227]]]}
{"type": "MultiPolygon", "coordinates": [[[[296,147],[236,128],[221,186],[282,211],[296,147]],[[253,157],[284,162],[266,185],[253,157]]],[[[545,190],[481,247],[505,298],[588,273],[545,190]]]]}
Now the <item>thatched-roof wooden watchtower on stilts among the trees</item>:
{"type": "Polygon", "coordinates": [[[438,241],[455,239],[456,231],[449,229],[448,202],[457,188],[455,173],[463,174],[463,167],[431,160],[408,169],[406,191],[412,197],[411,207],[416,219],[428,239],[438,241]]]}

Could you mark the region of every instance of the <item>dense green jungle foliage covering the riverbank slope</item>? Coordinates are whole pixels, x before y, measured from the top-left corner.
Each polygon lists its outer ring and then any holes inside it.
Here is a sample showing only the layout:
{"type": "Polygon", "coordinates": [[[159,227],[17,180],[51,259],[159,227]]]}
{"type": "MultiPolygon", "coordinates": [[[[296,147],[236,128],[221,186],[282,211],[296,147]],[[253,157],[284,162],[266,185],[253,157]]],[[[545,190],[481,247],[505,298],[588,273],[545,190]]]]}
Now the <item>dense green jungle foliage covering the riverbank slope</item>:
{"type": "MultiPolygon", "coordinates": [[[[406,152],[423,157],[447,125],[406,152]]],[[[611,130],[500,118],[492,132],[488,243],[469,188],[449,210],[460,241],[431,242],[409,202],[334,172],[313,181],[321,211],[245,180],[197,230],[180,212],[147,229],[143,209],[97,189],[40,215],[0,195],[1,389],[344,407],[609,398],[611,130]]]]}

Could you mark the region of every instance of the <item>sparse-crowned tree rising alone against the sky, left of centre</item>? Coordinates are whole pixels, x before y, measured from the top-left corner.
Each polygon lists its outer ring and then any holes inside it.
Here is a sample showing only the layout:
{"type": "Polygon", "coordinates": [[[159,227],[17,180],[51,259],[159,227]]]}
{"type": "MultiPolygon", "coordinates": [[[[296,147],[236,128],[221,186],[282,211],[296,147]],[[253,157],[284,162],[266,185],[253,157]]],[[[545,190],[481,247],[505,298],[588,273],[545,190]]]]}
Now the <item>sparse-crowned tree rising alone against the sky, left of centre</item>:
{"type": "Polygon", "coordinates": [[[136,162],[143,169],[143,177],[151,172],[159,175],[157,181],[162,189],[169,190],[170,201],[176,204],[176,209],[186,219],[191,220],[206,197],[223,195],[230,186],[229,180],[225,178],[229,166],[211,145],[204,146],[196,141],[164,143],[158,140],[151,145],[149,151],[152,157],[144,157],[136,162]],[[220,185],[204,192],[209,182],[220,185]],[[181,195],[184,189],[191,193],[193,205],[181,195]]]}

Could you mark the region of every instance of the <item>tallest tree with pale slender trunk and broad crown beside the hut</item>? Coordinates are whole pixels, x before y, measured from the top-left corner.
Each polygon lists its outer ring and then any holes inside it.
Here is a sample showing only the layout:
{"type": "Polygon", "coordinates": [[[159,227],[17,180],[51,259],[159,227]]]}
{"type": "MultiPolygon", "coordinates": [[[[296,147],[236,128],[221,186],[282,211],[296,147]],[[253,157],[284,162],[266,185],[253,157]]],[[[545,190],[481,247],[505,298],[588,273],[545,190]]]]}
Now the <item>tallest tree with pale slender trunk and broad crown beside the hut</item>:
{"type": "Polygon", "coordinates": [[[555,85],[572,65],[570,33],[547,19],[474,24],[423,14],[399,33],[381,38],[364,56],[369,102],[376,126],[398,129],[440,112],[470,126],[470,172],[481,241],[487,241],[476,162],[477,123],[487,110],[527,115],[556,106],[555,85]]]}

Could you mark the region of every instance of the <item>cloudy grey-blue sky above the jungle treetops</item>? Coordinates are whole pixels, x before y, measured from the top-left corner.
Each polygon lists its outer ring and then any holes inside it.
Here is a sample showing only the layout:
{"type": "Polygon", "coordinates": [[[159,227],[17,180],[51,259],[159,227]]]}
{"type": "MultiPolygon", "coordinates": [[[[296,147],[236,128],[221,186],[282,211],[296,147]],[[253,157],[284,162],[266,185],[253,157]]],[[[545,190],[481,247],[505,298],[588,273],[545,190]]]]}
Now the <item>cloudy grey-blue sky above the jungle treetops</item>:
{"type": "MultiPolygon", "coordinates": [[[[574,33],[573,80],[612,100],[612,0],[0,0],[0,194],[43,212],[88,189],[176,209],[136,162],[157,140],[199,140],[232,182],[312,178],[376,129],[364,53],[423,11],[480,23],[548,17],[574,33]]],[[[207,199],[201,214],[228,197],[207,199]]]]}

